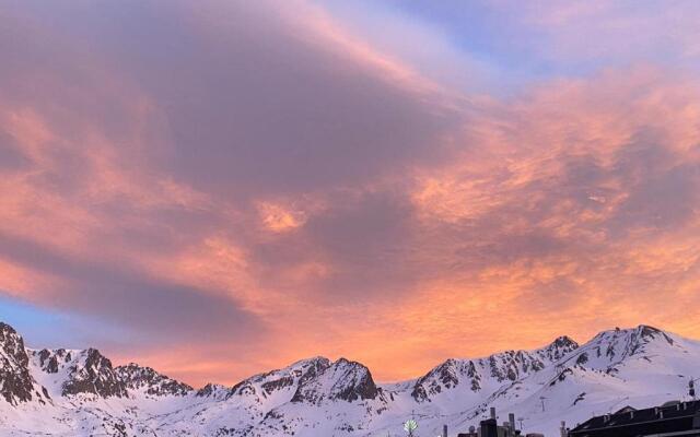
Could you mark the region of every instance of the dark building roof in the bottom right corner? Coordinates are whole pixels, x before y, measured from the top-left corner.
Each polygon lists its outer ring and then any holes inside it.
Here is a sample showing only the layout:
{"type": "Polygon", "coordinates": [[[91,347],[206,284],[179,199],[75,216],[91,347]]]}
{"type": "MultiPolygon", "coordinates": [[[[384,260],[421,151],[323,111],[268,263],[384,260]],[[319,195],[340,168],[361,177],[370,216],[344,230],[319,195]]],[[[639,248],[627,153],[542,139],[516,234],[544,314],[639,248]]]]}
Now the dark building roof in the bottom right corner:
{"type": "Polygon", "coordinates": [[[700,401],[644,410],[626,406],[582,423],[569,437],[700,437],[700,401]]]}

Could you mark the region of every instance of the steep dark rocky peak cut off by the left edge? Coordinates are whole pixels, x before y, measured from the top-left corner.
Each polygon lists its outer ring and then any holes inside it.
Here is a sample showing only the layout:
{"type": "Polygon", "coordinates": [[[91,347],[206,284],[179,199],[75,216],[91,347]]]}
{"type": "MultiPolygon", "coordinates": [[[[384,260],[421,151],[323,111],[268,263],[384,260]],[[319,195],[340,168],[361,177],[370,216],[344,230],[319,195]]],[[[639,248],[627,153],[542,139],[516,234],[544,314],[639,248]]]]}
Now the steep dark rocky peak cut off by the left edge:
{"type": "Polygon", "coordinates": [[[30,374],[30,357],[22,336],[9,324],[0,322],[0,397],[12,405],[37,399],[49,399],[30,374]]]}

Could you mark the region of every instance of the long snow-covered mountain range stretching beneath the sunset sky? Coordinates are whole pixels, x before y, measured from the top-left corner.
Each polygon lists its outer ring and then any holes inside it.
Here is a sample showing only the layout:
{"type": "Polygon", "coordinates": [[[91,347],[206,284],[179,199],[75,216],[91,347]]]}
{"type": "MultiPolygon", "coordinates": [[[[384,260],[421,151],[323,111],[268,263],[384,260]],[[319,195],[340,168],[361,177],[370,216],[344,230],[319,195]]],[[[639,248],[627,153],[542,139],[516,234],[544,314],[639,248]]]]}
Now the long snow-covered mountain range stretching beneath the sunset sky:
{"type": "Polygon", "coordinates": [[[593,414],[684,399],[700,343],[658,329],[561,336],[534,351],[447,359],[408,381],[315,357],[233,387],[195,390],[150,367],[113,367],[97,350],[28,350],[0,323],[2,436],[386,436],[415,415],[419,435],[477,425],[489,408],[526,432],[558,435],[593,414]]]}

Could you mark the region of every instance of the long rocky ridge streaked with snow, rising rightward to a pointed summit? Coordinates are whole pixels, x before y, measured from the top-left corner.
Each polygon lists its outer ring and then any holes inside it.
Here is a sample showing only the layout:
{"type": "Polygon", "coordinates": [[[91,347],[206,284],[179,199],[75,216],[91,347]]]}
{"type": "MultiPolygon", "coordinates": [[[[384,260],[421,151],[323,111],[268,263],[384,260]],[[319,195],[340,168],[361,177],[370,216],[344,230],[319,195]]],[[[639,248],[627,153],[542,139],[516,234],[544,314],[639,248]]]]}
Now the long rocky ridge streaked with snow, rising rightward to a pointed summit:
{"type": "Polygon", "coordinates": [[[479,359],[447,359],[419,378],[411,395],[419,402],[430,401],[459,385],[478,392],[488,380],[498,383],[515,381],[542,370],[578,347],[579,344],[570,338],[560,336],[536,351],[505,351],[479,359]]]}

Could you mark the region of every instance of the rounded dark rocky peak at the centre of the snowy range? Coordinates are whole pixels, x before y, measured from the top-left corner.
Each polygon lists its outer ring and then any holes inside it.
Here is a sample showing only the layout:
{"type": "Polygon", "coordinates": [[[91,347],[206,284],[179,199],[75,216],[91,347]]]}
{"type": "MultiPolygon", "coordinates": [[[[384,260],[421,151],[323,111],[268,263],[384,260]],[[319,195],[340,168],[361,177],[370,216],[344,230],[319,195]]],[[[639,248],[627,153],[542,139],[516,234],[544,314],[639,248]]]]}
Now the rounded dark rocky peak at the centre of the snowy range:
{"type": "Polygon", "coordinates": [[[340,358],[329,367],[319,369],[300,381],[292,402],[320,404],[324,401],[377,399],[382,390],[376,387],[370,369],[360,363],[340,358]]]}

